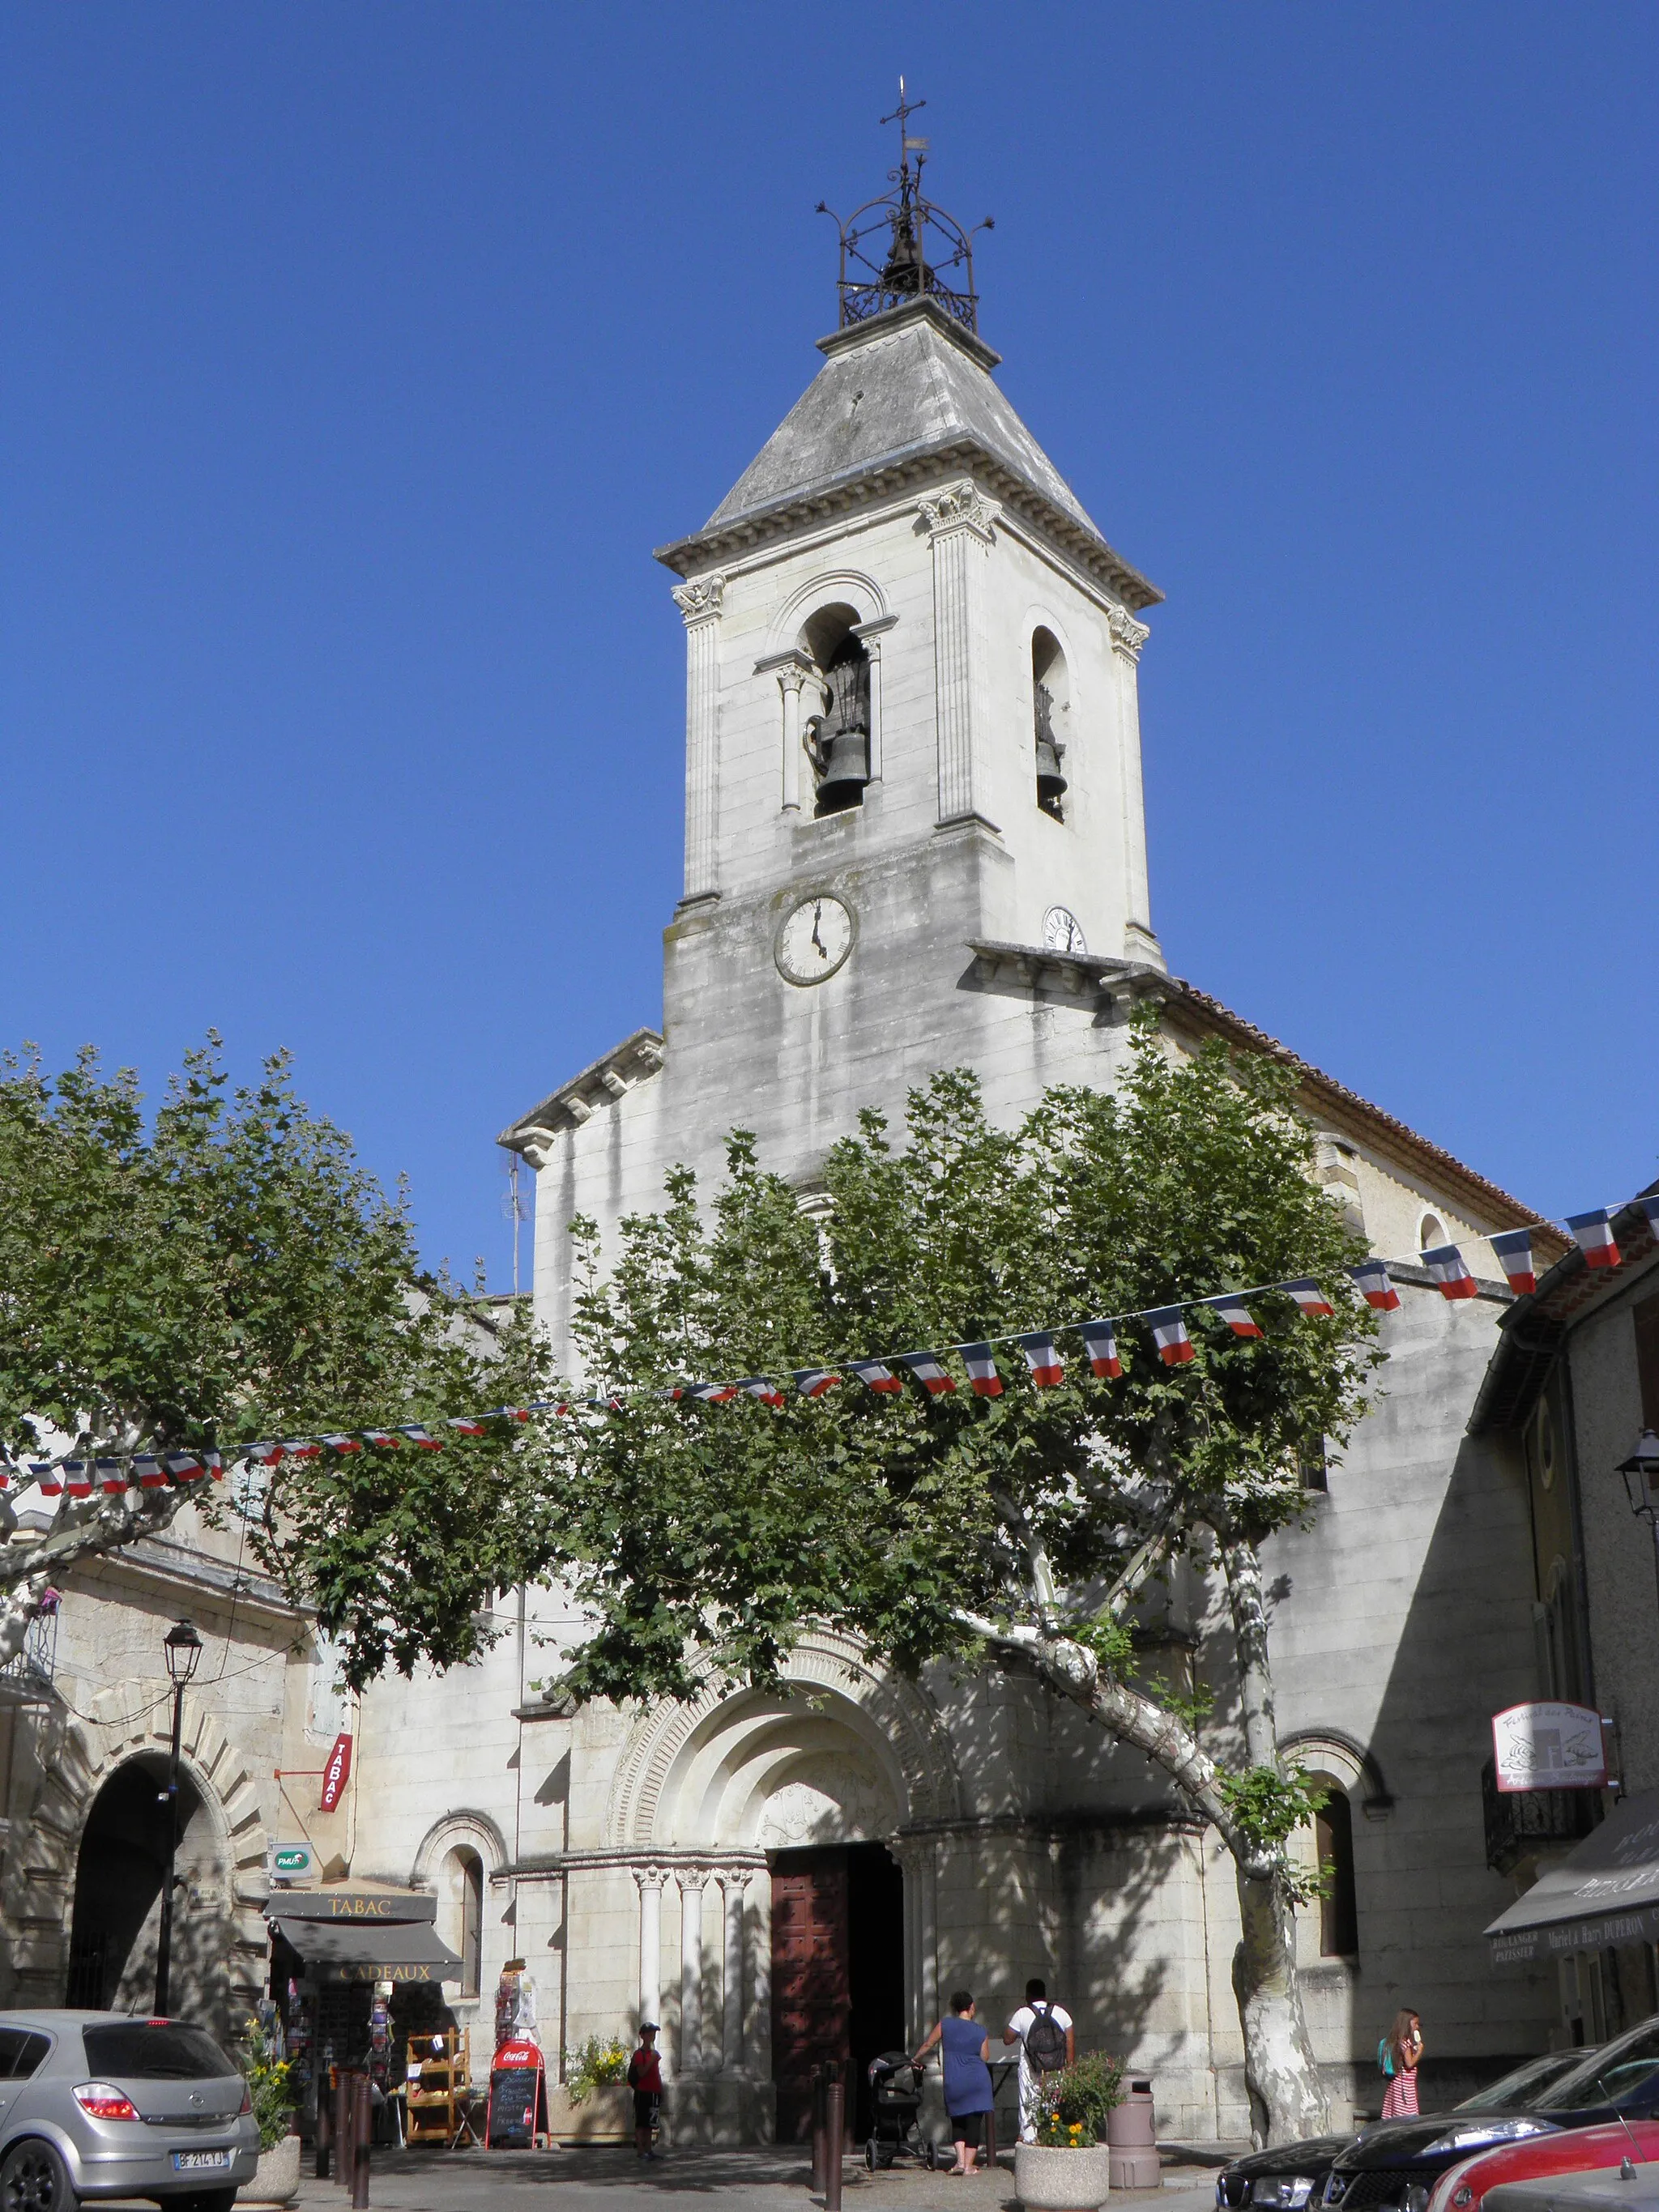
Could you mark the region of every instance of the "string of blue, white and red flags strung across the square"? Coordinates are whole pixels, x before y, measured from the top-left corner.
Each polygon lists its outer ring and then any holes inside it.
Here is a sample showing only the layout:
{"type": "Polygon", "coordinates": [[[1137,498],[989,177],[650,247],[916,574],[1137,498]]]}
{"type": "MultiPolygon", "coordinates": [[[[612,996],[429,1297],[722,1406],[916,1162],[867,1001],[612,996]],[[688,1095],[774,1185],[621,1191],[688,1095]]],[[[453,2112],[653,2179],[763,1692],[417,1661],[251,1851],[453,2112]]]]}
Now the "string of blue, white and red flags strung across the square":
{"type": "MultiPolygon", "coordinates": [[[[1648,1228],[1659,1241],[1659,1192],[1628,1201],[1639,1206],[1648,1228]]],[[[1482,1241],[1491,1245],[1498,1265],[1504,1270],[1509,1287],[1517,1298],[1537,1290],[1537,1265],[1533,1259],[1533,1237],[1540,1228],[1566,1234],[1584,1254],[1586,1267],[1619,1267],[1624,1254],[1613,1234],[1613,1217],[1624,1206],[1595,1206],[1582,1214],[1566,1214],[1559,1221],[1535,1221],[1520,1230],[1495,1230],[1482,1241]]],[[[1431,1245],[1398,1259],[1394,1265],[1420,1265],[1442,1298],[1473,1298],[1480,1290],[1455,1243],[1431,1245]]],[[[1400,1294],[1389,1276],[1389,1261],[1363,1259],[1345,1270],[1365,1303],[1378,1314],[1398,1307],[1400,1294]]],[[[787,1383],[801,1398],[823,1398],[847,1376],[863,1383],[876,1396],[896,1396],[905,1389],[909,1374],[929,1398],[945,1398],[956,1391],[956,1376],[945,1365],[956,1358],[967,1369],[969,1389],[975,1398],[1000,1398],[1004,1389],[998,1367],[998,1345],[1015,1345],[1024,1354],[1026,1371],[1035,1389],[1055,1389],[1066,1380],[1066,1363],[1055,1345],[1057,1336],[1082,1338],[1084,1360],[1099,1380],[1115,1380],[1124,1374],[1117,1347],[1119,1323],[1146,1323],[1152,1345],[1166,1367],[1183,1367],[1194,1356],[1192,1334],[1186,1325],[1190,1312],[1214,1314],[1239,1338],[1263,1336],[1263,1327],[1250,1310],[1252,1298],[1281,1292],[1292,1298],[1301,1314],[1310,1318],[1334,1314],[1314,1276],[1287,1276],[1279,1283],[1256,1283],[1250,1290],[1210,1292],[1206,1296],[1179,1298],[1172,1305],[1137,1307],[1128,1314],[1104,1314],[1097,1321],[1053,1323],[1046,1329],[1018,1329],[1006,1336],[978,1338],[975,1343],[942,1345],[933,1352],[887,1352],[880,1358],[836,1360],[830,1367],[794,1367],[787,1383]],[[898,1374],[896,1369],[902,1369],[898,1374]]],[[[531,1398],[526,1405],[498,1405],[487,1413],[453,1413],[438,1427],[453,1436],[491,1436],[498,1422],[526,1422],[533,1413],[619,1413],[630,1398],[670,1398],[697,1405],[728,1405],[732,1398],[750,1396],[761,1405],[783,1407],[790,1391],[776,1376],[739,1376],[732,1383],[679,1383],[666,1391],[628,1391],[611,1398],[531,1398]]],[[[124,1495],[128,1489],[155,1491],[168,1484],[223,1482],[226,1458],[243,1460],[252,1467],[276,1467],[281,1460],[316,1460],[325,1451],[354,1453],[372,1447],[392,1451],[414,1444],[418,1451],[442,1451],[447,1438],[434,1436],[420,1422],[400,1422],[389,1429],[327,1429],[319,1436],[299,1436],[257,1444],[232,1444],[226,1451],[137,1451],[102,1458],[55,1458],[24,1460],[20,1467],[0,1462],[0,1491],[38,1484],[42,1498],[91,1498],[124,1495]]]]}

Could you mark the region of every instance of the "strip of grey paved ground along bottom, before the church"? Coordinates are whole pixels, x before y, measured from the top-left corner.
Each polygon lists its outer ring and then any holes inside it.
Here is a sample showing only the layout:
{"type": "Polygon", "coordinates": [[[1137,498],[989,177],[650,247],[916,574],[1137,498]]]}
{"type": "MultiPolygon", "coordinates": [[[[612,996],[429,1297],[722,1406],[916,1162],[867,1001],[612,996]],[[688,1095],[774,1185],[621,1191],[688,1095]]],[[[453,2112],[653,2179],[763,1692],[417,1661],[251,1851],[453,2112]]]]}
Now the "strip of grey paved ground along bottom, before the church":
{"type": "MultiPolygon", "coordinates": [[[[641,2168],[630,2150],[378,2150],[369,2203],[383,2212],[622,2212],[670,2197],[714,2197],[739,2212],[816,2212],[807,2188],[810,2166],[799,2150],[666,2150],[641,2168]],[[549,2201],[549,2192],[555,2192],[549,2201]]],[[[1015,2205],[1013,2154],[989,2174],[929,2174],[922,2166],[894,2166],[869,2174],[849,2159],[843,2181],[847,2212],[1004,2212],[1015,2205]]],[[[1214,2172],[1170,2166],[1164,2190],[1124,2190],[1113,2205],[1146,2212],[1208,2212],[1214,2172]]],[[[349,2194],[332,2181],[301,2181],[294,2212],[345,2212],[349,2194]]]]}

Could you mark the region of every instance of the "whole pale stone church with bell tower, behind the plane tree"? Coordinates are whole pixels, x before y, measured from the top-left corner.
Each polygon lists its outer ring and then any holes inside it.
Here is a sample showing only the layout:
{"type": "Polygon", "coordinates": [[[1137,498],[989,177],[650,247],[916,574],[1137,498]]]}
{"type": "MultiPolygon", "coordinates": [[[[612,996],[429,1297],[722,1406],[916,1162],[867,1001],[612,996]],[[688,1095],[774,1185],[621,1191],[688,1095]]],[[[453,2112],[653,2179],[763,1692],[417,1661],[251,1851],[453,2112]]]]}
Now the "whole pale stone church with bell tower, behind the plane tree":
{"type": "MultiPolygon", "coordinates": [[[[686,624],[661,1031],[502,1139],[538,1175],[535,1307],[562,1354],[571,1217],[613,1232],[672,1161],[712,1183],[734,1126],[810,1206],[858,1108],[898,1117],[936,1068],[971,1066],[1009,1119],[1053,1082],[1110,1086],[1148,995],[1177,1051],[1290,1057],[1170,978],[1155,936],[1137,661],[1159,593],[949,301],[922,288],[821,352],[706,529],[659,555],[686,624]]],[[[1491,1279],[1453,1305],[1398,1270],[1383,1402],[1270,1562],[1281,1730],[1334,1785],[1307,1838],[1334,1871],[1301,1931],[1310,2022],[1338,2110],[1363,2110],[1402,2002],[1447,2090],[1559,2031],[1555,1989],[1498,1982],[1480,1936],[1513,1896],[1482,1834],[1489,1717],[1535,1694],[1537,1646],[1526,1491],[1464,1425],[1506,1298],[1482,1234],[1526,1214],[1296,1066],[1318,1172],[1371,1250],[1455,1237],[1491,1279]]],[[[995,2022],[1042,1973],[1084,2046],[1155,2075],[1166,2132],[1248,2132],[1232,1865],[1139,1754],[1015,1677],[911,1683],[827,1635],[796,1655],[799,1697],[568,1712],[538,1683],[577,1624],[555,1593],[513,1604],[480,1668],[365,1699],[356,1865],[431,1880],[478,1854],[484,1986],[522,1958],[549,2048],[657,2017],[677,2137],[787,2135],[841,2017],[867,2059],[914,2048],[956,1984],[995,2022]]],[[[1210,1604],[1190,1582],[1168,1606],[1199,1668],[1210,1604]]]]}

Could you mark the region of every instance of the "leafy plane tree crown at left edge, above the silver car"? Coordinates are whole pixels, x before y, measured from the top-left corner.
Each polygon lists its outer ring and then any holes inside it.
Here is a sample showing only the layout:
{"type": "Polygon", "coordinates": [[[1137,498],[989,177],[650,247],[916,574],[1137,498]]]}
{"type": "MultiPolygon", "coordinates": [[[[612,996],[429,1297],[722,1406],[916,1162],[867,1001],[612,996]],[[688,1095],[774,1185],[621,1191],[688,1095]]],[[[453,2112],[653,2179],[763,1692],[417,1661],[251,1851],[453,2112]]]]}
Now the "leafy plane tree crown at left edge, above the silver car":
{"type": "Polygon", "coordinates": [[[248,1515],[248,1551],[338,1637],[354,1686],[465,1661],[491,1593],[546,1551],[533,1436],[498,1420],[442,1451],[274,1467],[239,1447],[529,1398],[538,1340],[420,1265],[405,1194],[305,1108],[283,1055],[232,1093],[215,1046],[153,1115],[91,1051],[55,1079],[38,1060],[0,1071],[0,1661],[80,1562],[186,1509],[248,1515]],[[131,1455],[210,1451],[223,1484],[122,1480],[131,1455]],[[108,1491],[51,1500],[31,1473],[100,1455],[108,1491]]]}

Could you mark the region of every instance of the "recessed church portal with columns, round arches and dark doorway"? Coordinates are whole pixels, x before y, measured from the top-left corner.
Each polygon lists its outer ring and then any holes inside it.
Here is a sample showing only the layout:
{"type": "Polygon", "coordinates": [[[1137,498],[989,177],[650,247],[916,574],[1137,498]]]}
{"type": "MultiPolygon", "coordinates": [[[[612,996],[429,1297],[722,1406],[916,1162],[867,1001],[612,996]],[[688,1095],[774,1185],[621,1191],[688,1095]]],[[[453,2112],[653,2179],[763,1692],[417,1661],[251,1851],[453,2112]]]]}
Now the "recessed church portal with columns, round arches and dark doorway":
{"type": "MultiPolygon", "coordinates": [[[[849,2046],[865,2033],[858,2017],[880,2017],[883,2048],[931,2013],[933,1849],[914,1832],[956,1818],[956,1759],[931,1701],[852,1637],[803,1639],[776,1692],[710,1683],[688,1703],[641,1710],[615,1770],[604,1854],[639,1885],[639,2008],[666,2028],[677,2137],[730,2139],[737,2084],[757,2093],[745,2132],[770,2135],[774,2112],[787,2132],[794,2062],[823,2055],[836,2008],[849,2046]],[[830,1960],[816,1978],[830,1993],[825,2020],[792,2028],[785,1984],[803,1980],[801,1940],[830,1960]],[[885,1971],[867,1975],[876,1949],[885,1971]]],[[[872,2055],[863,2042],[858,2053],[872,2055]]]]}

